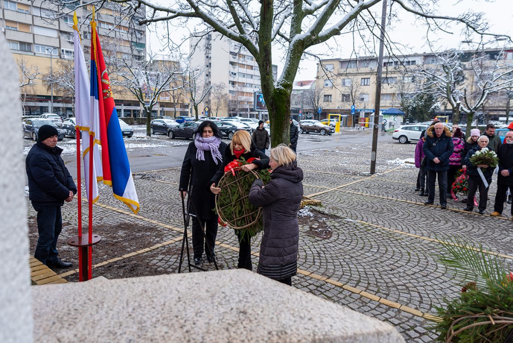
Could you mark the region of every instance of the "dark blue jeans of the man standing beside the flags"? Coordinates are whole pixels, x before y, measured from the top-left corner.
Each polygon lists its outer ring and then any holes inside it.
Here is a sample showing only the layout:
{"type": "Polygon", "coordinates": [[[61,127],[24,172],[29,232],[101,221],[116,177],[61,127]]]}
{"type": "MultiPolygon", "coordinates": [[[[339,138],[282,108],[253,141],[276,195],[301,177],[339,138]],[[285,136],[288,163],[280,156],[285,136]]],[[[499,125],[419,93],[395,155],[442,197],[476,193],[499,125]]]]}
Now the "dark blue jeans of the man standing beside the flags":
{"type": "Polygon", "coordinates": [[[37,232],[39,239],[35,247],[34,257],[43,264],[57,261],[57,239],[63,228],[61,206],[38,206],[37,232]]]}

